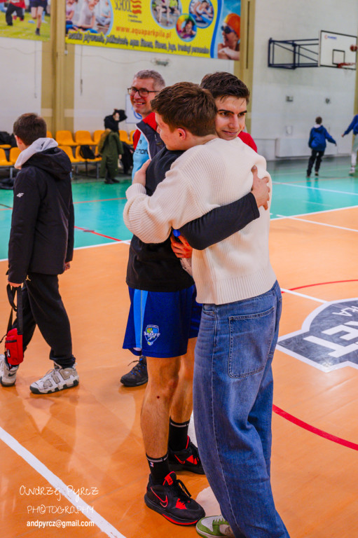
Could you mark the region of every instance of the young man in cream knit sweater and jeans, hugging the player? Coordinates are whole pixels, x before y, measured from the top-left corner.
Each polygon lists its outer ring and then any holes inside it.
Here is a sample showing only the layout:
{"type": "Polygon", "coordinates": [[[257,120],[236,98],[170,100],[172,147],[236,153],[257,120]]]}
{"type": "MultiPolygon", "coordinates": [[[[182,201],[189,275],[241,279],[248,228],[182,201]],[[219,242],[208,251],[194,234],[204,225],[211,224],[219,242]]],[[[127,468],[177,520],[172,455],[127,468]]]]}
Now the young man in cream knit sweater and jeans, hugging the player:
{"type": "MultiPolygon", "coordinates": [[[[242,108],[246,105],[242,99],[242,108]]],[[[124,219],[142,241],[162,242],[172,228],[248,193],[252,167],[261,177],[266,161],[240,139],[217,138],[216,107],[207,90],[178,83],[162,90],[152,108],[167,149],[186,151],[151,197],[144,188],[147,165],[137,172],[124,219]]],[[[270,265],[268,230],[269,214],[261,207],[259,219],[239,232],[193,250],[193,277],[203,303],[195,348],[195,430],[205,473],[237,538],[289,536],[270,486],[271,362],[281,294],[270,265]]]]}

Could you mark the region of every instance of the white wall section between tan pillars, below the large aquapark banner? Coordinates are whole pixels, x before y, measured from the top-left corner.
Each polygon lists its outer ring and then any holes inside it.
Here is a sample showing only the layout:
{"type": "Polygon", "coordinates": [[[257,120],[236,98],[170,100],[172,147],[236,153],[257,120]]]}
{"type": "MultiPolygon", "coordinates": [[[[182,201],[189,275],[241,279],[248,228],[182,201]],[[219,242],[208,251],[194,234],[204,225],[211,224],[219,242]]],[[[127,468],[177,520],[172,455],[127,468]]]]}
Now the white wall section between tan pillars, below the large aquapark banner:
{"type": "MultiPolygon", "coordinates": [[[[76,45],[74,76],[74,130],[103,129],[103,118],[113,109],[125,109],[125,95],[133,75],[155,69],[167,85],[179,81],[200,82],[212,71],[230,71],[231,60],[207,60],[167,54],[143,53],[118,48],[76,45]],[[157,62],[167,62],[167,65],[157,62]]],[[[135,124],[121,123],[132,130],[135,124]]]]}

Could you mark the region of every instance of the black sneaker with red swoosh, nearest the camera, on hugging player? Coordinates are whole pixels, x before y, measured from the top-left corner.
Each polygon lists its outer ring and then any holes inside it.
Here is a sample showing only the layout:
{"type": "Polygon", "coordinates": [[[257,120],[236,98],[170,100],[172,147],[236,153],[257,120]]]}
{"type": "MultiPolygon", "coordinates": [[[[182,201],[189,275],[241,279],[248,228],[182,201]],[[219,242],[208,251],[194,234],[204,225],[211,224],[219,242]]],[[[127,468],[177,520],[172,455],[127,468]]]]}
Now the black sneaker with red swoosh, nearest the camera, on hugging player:
{"type": "Polygon", "coordinates": [[[154,485],[151,475],[144,495],[146,506],[161,513],[165,519],[176,525],[195,525],[205,516],[205,511],[177,479],[172,471],[165,476],[163,485],[154,485]]]}

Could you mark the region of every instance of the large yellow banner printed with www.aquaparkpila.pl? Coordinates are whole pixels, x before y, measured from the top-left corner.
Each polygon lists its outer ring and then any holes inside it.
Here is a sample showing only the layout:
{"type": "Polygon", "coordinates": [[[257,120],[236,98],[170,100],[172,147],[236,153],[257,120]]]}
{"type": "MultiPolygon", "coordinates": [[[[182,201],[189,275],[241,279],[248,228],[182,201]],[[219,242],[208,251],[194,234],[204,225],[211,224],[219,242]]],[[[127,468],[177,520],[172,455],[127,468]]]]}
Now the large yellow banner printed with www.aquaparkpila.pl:
{"type": "Polygon", "coordinates": [[[240,0],[67,0],[66,41],[240,59],[240,0]]]}

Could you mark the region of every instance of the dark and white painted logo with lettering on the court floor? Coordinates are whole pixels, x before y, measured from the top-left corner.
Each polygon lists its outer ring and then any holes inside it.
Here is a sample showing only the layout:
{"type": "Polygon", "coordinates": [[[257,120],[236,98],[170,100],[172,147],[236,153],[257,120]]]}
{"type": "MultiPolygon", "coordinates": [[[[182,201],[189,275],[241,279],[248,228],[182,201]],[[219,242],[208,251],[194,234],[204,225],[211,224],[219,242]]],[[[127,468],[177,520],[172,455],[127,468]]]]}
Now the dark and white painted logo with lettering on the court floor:
{"type": "Polygon", "coordinates": [[[277,349],[324,372],[358,368],[358,298],[319,306],[301,331],[278,339],[277,349]]]}

